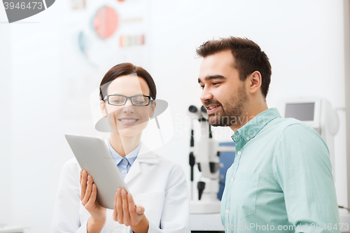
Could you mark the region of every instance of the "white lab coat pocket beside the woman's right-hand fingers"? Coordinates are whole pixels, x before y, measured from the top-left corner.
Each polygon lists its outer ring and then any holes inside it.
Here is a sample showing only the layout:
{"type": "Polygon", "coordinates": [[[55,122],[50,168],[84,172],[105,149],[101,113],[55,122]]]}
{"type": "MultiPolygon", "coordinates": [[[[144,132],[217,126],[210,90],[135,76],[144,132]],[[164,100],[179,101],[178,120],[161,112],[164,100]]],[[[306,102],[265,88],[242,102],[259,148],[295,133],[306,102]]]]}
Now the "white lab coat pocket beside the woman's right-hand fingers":
{"type": "Polygon", "coordinates": [[[146,192],[135,195],[135,204],[141,204],[145,207],[145,215],[147,219],[156,225],[160,224],[160,217],[165,201],[165,191],[146,192]]]}

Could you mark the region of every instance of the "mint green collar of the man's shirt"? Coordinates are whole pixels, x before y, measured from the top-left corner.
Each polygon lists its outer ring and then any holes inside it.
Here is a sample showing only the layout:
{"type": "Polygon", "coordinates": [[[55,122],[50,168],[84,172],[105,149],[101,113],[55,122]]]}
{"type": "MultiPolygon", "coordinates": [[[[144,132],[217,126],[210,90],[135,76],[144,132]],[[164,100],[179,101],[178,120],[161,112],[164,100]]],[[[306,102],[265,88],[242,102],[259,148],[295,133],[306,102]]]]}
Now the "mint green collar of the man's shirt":
{"type": "Polygon", "coordinates": [[[238,146],[240,150],[240,148],[242,148],[248,141],[251,141],[251,139],[253,139],[268,122],[275,118],[281,118],[277,108],[269,108],[258,115],[255,115],[254,118],[249,120],[246,125],[237,129],[231,136],[232,140],[235,141],[236,148],[238,146]]]}

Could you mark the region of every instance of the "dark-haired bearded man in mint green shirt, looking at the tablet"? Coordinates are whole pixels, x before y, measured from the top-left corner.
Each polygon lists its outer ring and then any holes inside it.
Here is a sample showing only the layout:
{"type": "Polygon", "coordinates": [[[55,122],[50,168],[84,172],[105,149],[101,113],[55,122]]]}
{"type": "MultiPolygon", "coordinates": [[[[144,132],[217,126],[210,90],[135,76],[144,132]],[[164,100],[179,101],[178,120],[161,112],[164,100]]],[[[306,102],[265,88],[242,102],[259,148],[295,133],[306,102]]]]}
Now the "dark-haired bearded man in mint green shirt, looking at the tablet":
{"type": "Polygon", "coordinates": [[[221,201],[225,232],[340,232],[328,148],[311,127],[267,108],[265,52],[230,37],[203,43],[197,55],[209,123],[234,132],[221,201]]]}

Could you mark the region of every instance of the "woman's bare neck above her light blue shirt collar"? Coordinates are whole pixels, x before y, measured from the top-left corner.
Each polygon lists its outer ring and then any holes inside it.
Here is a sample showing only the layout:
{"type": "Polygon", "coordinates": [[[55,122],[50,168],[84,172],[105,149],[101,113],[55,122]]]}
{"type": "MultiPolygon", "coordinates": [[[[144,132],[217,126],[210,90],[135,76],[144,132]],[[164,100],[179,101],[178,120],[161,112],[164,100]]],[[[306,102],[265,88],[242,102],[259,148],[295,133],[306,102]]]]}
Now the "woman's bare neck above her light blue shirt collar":
{"type": "Polygon", "coordinates": [[[122,157],[135,150],[139,146],[140,141],[141,133],[136,136],[122,136],[117,132],[111,133],[109,138],[112,148],[122,157]]]}

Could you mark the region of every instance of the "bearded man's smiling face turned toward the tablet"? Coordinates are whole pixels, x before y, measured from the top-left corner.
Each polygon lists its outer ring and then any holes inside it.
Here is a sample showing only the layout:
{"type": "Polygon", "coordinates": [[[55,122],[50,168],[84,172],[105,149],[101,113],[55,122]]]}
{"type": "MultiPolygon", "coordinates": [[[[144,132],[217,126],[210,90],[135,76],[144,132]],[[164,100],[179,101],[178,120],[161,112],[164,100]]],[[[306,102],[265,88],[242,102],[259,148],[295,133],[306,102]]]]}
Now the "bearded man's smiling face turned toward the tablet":
{"type": "Polygon", "coordinates": [[[233,64],[232,52],[225,50],[205,57],[200,66],[200,99],[207,108],[210,125],[241,125],[245,120],[249,100],[246,84],[239,80],[233,64]]]}

